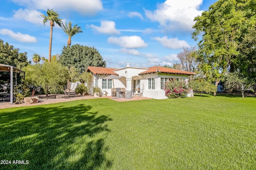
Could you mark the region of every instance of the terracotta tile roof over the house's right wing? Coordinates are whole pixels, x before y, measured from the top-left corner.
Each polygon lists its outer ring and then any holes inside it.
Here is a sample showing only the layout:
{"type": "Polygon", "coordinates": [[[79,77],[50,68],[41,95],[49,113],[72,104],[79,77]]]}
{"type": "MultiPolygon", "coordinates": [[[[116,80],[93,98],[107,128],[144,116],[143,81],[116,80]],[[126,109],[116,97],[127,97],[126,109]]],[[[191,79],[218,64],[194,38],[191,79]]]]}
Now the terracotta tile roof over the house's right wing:
{"type": "Polygon", "coordinates": [[[142,74],[150,74],[150,73],[156,73],[156,72],[161,72],[161,73],[167,73],[167,74],[185,74],[185,75],[196,75],[195,72],[188,72],[188,71],[183,71],[183,70],[176,70],[173,68],[167,68],[167,67],[161,67],[161,66],[153,66],[148,68],[148,70],[139,73],[139,75],[142,74]]]}

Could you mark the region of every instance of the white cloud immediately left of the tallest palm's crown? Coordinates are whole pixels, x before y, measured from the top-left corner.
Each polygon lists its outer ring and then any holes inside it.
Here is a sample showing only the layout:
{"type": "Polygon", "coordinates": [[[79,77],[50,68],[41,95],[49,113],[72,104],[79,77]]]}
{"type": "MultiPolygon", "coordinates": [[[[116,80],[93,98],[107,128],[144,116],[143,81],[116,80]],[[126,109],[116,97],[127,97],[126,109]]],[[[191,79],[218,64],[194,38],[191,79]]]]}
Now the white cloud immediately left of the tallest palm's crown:
{"type": "Polygon", "coordinates": [[[19,9],[13,15],[14,19],[25,20],[31,23],[43,24],[42,17],[40,16],[41,12],[37,10],[28,10],[28,9],[19,9]]]}

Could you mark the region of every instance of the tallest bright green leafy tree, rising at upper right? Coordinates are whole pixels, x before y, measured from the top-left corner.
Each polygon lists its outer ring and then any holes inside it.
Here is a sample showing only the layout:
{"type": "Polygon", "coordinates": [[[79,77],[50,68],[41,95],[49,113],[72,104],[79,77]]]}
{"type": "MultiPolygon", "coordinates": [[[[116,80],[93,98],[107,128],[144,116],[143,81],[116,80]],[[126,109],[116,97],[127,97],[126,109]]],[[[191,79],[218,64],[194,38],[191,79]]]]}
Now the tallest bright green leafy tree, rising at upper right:
{"type": "Polygon", "coordinates": [[[238,45],[248,27],[255,23],[255,2],[252,0],[218,0],[197,16],[192,33],[198,43],[198,61],[204,74],[216,86],[240,54],[238,45]]]}

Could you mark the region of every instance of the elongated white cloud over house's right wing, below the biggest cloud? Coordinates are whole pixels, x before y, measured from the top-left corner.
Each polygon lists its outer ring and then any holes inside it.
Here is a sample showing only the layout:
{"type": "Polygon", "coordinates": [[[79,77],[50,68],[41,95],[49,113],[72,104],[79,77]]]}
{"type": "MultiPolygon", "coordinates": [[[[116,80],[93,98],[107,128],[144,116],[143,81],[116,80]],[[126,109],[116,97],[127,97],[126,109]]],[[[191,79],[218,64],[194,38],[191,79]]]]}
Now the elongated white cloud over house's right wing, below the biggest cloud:
{"type": "Polygon", "coordinates": [[[168,39],[167,36],[164,36],[162,38],[154,37],[153,39],[159,41],[164,47],[168,49],[181,49],[183,47],[190,47],[186,41],[178,40],[178,38],[168,39]]]}

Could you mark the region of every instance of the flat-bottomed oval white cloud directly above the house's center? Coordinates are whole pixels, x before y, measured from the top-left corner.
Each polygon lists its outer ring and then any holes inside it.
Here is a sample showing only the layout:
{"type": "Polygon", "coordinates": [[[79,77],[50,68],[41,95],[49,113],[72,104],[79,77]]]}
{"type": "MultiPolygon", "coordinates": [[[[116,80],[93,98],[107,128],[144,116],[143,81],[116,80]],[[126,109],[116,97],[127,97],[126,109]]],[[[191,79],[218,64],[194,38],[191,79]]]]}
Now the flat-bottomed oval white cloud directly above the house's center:
{"type": "Polygon", "coordinates": [[[122,36],[122,37],[109,37],[108,43],[120,45],[123,48],[143,48],[147,47],[148,44],[144,42],[139,36],[122,36]]]}

